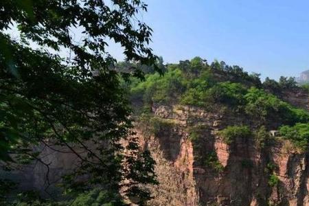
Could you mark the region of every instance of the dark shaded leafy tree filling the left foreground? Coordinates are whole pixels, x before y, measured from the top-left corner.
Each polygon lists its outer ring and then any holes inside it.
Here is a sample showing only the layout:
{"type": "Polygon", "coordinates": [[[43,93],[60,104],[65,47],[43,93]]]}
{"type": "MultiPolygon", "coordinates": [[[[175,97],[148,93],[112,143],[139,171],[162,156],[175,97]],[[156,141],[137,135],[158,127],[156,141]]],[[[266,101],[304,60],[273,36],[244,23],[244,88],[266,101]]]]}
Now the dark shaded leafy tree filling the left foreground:
{"type": "MultiPolygon", "coordinates": [[[[133,140],[123,155],[125,148],[119,144],[130,135],[130,109],[113,69],[116,60],[106,52],[111,39],[124,48],[127,60],[155,63],[157,56],[148,47],[152,30],[137,19],[146,6],[139,0],[0,2],[3,168],[38,161],[48,171],[49,163],[32,150],[44,146],[79,159],[63,179],[66,192],[100,186],[112,194],[125,188],[124,193],[139,197],[140,203],[150,197],[138,186],[156,182],[149,153],[139,152],[133,140]],[[12,32],[15,29],[18,32],[12,32]],[[82,181],[85,176],[87,181],[82,181]]],[[[133,68],[122,76],[143,78],[143,72],[133,68]]]]}

